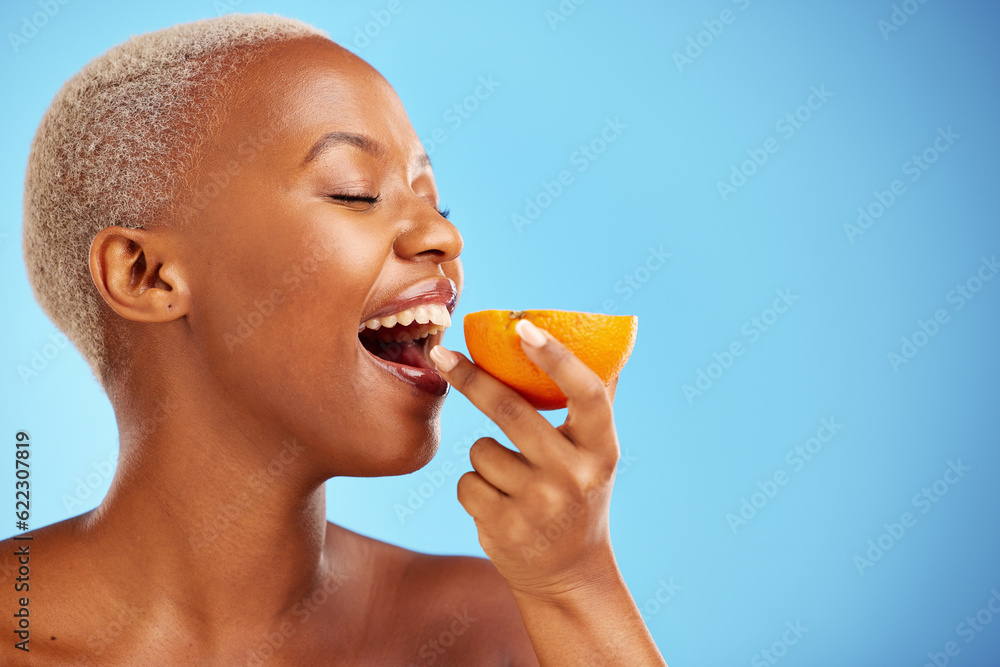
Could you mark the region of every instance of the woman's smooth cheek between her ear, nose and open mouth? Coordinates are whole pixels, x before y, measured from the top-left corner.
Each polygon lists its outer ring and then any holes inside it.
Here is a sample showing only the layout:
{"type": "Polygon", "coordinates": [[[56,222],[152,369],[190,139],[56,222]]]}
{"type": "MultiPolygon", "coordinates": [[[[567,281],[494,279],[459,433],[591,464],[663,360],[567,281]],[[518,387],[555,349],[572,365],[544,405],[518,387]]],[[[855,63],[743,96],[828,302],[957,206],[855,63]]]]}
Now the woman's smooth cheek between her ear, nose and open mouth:
{"type": "Polygon", "coordinates": [[[299,213],[216,226],[192,281],[192,330],[213,373],[269,400],[329,400],[323,387],[350,384],[345,356],[385,260],[364,229],[299,213]]]}

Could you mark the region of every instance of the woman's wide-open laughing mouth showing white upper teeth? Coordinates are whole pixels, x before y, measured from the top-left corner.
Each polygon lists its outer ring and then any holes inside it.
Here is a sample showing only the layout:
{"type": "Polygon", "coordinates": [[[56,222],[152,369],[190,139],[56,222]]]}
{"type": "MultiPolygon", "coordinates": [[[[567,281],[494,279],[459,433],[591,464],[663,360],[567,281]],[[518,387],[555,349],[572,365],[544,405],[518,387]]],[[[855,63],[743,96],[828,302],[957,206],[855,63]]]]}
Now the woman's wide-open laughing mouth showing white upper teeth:
{"type": "Polygon", "coordinates": [[[451,315],[443,304],[427,303],[384,317],[372,318],[359,327],[362,347],[400,380],[437,395],[448,390],[428,353],[451,326],[451,315]]]}

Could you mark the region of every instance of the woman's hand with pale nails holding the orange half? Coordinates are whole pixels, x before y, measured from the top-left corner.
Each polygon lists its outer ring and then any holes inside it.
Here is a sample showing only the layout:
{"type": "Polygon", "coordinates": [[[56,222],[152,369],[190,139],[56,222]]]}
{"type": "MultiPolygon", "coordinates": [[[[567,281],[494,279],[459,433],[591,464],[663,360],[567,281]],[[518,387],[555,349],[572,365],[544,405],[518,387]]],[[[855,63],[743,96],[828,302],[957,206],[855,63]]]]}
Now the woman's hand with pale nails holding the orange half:
{"type": "Polygon", "coordinates": [[[459,480],[458,500],[515,593],[556,601],[586,597],[620,577],[608,529],[619,456],[614,385],[605,388],[586,364],[528,320],[516,330],[528,358],[566,395],[566,421],[553,427],[464,355],[435,347],[438,372],[520,450],[493,438],[477,440],[469,452],[475,471],[459,480]]]}

